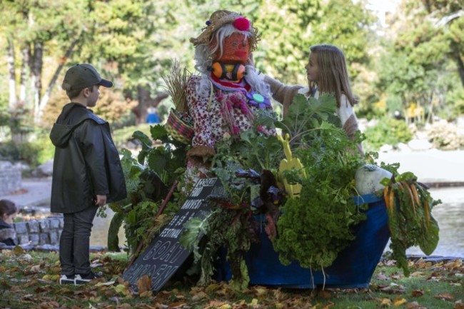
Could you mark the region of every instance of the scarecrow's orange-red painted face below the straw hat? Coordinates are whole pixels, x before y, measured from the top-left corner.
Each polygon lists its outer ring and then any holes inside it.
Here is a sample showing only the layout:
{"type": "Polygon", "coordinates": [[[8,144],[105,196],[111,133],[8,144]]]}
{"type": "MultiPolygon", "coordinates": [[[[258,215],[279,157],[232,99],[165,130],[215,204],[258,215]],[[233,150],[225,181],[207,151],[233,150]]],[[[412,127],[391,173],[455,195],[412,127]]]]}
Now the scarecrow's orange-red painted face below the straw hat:
{"type": "Polygon", "coordinates": [[[223,41],[223,53],[216,51],[215,61],[223,64],[246,64],[250,56],[250,43],[243,34],[234,33],[223,41]]]}

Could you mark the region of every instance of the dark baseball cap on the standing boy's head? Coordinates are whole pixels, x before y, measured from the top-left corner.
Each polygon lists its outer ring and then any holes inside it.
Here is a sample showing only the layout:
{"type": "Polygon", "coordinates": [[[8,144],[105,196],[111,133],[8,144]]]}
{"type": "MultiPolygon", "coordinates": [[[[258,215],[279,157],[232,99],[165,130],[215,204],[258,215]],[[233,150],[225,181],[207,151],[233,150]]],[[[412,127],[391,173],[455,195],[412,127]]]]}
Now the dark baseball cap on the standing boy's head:
{"type": "Polygon", "coordinates": [[[76,64],[66,71],[61,88],[66,91],[71,91],[94,85],[111,88],[113,82],[101,78],[99,72],[97,72],[91,64],[76,64]]]}

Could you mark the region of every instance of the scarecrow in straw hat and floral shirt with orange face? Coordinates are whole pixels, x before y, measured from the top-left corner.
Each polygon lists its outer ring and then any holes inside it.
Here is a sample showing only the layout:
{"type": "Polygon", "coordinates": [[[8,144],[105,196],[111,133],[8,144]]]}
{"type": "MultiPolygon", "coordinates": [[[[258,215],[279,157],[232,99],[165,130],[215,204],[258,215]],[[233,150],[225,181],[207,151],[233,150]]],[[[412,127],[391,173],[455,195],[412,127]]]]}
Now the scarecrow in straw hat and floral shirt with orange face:
{"type": "MultiPolygon", "coordinates": [[[[258,30],[241,14],[215,11],[197,38],[195,68],[200,72],[186,81],[186,109],[193,123],[187,167],[191,175],[207,175],[215,144],[238,138],[253,127],[258,110],[272,112],[271,91],[263,78],[248,65],[256,49],[258,30]]],[[[259,126],[259,133],[275,134],[259,126]]]]}

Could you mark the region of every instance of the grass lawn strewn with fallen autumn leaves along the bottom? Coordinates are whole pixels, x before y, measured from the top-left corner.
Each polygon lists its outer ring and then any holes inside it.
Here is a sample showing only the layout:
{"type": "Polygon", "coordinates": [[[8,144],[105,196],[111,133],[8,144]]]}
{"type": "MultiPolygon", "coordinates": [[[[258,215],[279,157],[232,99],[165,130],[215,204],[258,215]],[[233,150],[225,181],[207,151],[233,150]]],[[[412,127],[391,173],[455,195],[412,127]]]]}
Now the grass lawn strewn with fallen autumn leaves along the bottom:
{"type": "MultiPolygon", "coordinates": [[[[91,255],[104,278],[86,285],[59,285],[55,252],[0,252],[0,308],[414,308],[464,309],[462,260],[410,262],[405,278],[394,262],[379,263],[368,289],[286,290],[251,286],[234,290],[227,283],[196,287],[187,278],[171,280],[159,293],[134,293],[120,275],[126,253],[91,255]]],[[[141,285],[143,284],[141,283],[141,285]]],[[[149,285],[148,285],[149,286],[149,285]]]]}

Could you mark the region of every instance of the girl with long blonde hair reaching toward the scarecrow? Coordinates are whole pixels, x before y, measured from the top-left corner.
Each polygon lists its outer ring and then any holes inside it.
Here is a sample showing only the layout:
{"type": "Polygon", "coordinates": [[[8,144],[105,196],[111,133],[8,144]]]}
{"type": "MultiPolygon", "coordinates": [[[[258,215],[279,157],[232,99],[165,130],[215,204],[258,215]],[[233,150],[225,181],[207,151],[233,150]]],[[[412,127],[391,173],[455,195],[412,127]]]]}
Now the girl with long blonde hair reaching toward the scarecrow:
{"type": "MultiPolygon", "coordinates": [[[[357,101],[351,93],[345,55],[336,46],[327,44],[311,46],[310,51],[308,64],[305,66],[308,88],[284,86],[280,81],[269,76],[264,80],[271,86],[273,98],[283,104],[284,117],[297,93],[304,94],[306,98],[310,96],[318,98],[322,93],[333,93],[337,100],[337,115],[341,119],[343,129],[348,137],[353,139],[355,132],[358,131],[358,120],[353,111],[353,105],[357,101]]],[[[360,145],[358,150],[361,155],[364,154],[360,145]]]]}

